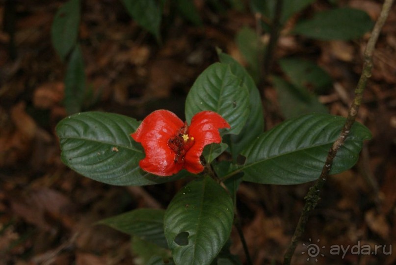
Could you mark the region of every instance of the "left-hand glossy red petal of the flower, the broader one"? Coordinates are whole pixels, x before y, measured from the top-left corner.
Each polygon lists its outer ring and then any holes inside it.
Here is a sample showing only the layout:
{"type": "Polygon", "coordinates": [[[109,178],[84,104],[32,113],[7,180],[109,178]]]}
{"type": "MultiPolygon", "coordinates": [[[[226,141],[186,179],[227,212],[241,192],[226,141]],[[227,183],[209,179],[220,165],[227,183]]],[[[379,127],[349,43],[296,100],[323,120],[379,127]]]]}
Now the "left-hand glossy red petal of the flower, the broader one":
{"type": "Polygon", "coordinates": [[[175,153],[168,147],[168,140],[183,124],[173,112],[163,109],[152,112],[142,121],[131,136],[144,148],[146,157],[139,162],[143,170],[158,176],[170,176],[183,168],[183,164],[175,163],[175,153]]]}

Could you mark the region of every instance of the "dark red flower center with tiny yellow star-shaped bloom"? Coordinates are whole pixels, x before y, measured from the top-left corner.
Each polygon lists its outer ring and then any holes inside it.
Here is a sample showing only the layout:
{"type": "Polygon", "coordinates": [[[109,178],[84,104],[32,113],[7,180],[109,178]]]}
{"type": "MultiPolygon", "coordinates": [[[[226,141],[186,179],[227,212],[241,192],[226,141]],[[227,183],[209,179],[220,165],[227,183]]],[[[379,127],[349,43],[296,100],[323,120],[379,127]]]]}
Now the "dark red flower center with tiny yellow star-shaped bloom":
{"type": "Polygon", "coordinates": [[[168,140],[168,146],[175,152],[175,163],[184,163],[184,157],[187,151],[194,145],[194,137],[188,135],[188,125],[179,129],[174,137],[168,140]]]}

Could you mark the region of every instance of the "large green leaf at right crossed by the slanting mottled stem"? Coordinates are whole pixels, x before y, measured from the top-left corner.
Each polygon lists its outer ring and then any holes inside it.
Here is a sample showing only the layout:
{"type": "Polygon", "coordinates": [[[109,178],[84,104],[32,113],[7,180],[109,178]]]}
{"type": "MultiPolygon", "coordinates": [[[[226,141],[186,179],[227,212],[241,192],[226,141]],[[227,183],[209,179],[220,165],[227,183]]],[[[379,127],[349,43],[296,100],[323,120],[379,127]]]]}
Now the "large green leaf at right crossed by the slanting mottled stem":
{"type": "MultiPolygon", "coordinates": [[[[261,184],[300,184],[316,180],[327,153],[338,138],[345,118],[309,114],[287,120],[261,135],[243,153],[243,180],[261,184]]],[[[355,123],[331,168],[337,174],[352,167],[359,158],[369,129],[355,123]]]]}

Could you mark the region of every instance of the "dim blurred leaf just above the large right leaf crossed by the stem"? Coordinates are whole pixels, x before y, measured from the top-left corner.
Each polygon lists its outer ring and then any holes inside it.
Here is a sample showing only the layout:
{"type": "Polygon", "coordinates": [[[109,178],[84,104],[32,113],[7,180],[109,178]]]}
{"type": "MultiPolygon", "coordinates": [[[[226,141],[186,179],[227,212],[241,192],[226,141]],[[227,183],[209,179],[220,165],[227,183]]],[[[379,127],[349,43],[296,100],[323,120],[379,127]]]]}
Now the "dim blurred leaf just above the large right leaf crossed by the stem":
{"type": "Polygon", "coordinates": [[[273,77],[279,106],[285,118],[294,118],[312,112],[327,113],[327,107],[304,88],[299,88],[279,77],[273,77]]]}

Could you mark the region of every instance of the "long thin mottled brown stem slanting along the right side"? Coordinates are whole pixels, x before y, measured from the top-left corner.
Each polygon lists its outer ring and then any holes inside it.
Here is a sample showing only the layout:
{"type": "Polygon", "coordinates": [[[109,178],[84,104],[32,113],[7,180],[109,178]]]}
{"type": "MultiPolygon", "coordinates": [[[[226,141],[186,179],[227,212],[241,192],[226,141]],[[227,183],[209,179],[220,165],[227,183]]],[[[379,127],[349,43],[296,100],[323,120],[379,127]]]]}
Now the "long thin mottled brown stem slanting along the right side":
{"type": "Polygon", "coordinates": [[[301,212],[300,219],[298,220],[296,229],[291,238],[290,245],[284,255],[284,261],[283,261],[284,265],[290,265],[291,257],[293,256],[294,250],[297,246],[297,242],[304,233],[305,226],[308,222],[309,213],[315,209],[315,207],[317,206],[317,202],[320,199],[319,193],[324,183],[326,182],[327,177],[329,176],[329,172],[333,165],[333,160],[336,157],[338,150],[345,142],[345,139],[348,136],[353,123],[355,122],[359,107],[362,104],[363,92],[366,88],[367,80],[371,77],[372,54],[374,53],[374,47],[378,40],[378,36],[381,31],[381,28],[384,25],[386,18],[388,17],[393,1],[394,0],[385,0],[384,4],[382,5],[380,16],[377,22],[375,23],[375,26],[371,32],[370,39],[366,46],[366,50],[364,52],[364,64],[363,64],[362,74],[360,76],[358,84],[356,85],[355,98],[348,110],[348,116],[343,126],[343,130],[340,133],[340,136],[337,138],[337,140],[333,143],[332,147],[330,148],[326,158],[326,162],[322,168],[322,172],[320,173],[319,178],[317,179],[315,185],[309,189],[308,194],[305,197],[306,202],[304,208],[301,212]]]}

